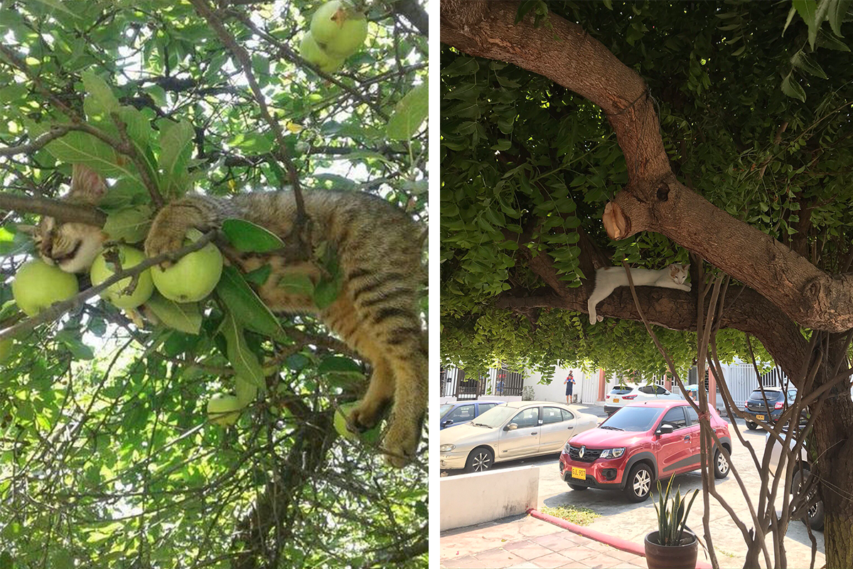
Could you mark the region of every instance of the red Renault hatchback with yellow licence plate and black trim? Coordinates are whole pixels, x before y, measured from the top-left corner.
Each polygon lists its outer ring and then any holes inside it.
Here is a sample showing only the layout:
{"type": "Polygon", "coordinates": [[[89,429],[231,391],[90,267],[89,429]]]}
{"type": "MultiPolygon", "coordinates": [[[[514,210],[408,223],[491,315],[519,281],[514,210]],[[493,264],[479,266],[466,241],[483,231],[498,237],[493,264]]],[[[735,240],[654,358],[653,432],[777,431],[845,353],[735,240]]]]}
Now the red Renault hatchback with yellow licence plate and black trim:
{"type": "MultiPolygon", "coordinates": [[[[731,454],[728,423],[714,409],[711,425],[731,454]]],[[[570,438],[560,455],[560,477],[572,490],[624,490],[642,502],[655,479],[698,469],[700,456],[699,417],[688,402],[643,401],[570,438]]],[[[728,476],[728,461],[716,447],[714,476],[728,476]]]]}

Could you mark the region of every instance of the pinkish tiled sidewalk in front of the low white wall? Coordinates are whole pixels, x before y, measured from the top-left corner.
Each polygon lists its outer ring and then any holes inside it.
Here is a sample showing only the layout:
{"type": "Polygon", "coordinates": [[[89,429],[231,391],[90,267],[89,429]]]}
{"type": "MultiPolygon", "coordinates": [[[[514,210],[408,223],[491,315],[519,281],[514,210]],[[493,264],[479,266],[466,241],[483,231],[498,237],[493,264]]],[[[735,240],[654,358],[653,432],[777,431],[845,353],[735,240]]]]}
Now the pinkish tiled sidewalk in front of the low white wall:
{"type": "Polygon", "coordinates": [[[442,532],[441,566],[448,569],[633,569],[645,568],[646,560],[522,515],[442,532]]]}

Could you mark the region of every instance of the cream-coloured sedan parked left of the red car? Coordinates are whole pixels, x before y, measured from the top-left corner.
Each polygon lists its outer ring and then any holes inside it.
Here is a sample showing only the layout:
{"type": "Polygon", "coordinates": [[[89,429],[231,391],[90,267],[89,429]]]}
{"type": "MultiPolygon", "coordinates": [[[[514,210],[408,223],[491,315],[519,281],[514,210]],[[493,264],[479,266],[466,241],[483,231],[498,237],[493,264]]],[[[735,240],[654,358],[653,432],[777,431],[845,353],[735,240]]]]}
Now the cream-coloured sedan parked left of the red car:
{"type": "Polygon", "coordinates": [[[441,432],[441,469],[488,470],[495,462],[557,454],[601,419],[550,401],[514,401],[441,432]]]}

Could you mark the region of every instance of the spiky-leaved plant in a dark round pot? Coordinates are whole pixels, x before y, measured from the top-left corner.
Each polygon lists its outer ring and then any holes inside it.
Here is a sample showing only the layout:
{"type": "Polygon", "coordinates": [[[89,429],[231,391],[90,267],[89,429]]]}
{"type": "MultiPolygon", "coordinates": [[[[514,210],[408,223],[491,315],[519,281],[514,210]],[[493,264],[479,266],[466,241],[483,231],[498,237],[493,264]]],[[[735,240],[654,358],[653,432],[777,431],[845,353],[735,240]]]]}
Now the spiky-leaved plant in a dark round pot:
{"type": "Polygon", "coordinates": [[[649,569],[695,569],[696,556],[699,553],[699,539],[692,531],[685,531],[690,514],[690,507],[699,491],[693,491],[693,497],[687,502],[687,495],[682,498],[681,489],[670,500],[670,483],[666,485],[666,494],[660,490],[658,480],[659,503],[654,504],[658,514],[658,531],[652,531],[646,536],[646,563],[649,569]]]}

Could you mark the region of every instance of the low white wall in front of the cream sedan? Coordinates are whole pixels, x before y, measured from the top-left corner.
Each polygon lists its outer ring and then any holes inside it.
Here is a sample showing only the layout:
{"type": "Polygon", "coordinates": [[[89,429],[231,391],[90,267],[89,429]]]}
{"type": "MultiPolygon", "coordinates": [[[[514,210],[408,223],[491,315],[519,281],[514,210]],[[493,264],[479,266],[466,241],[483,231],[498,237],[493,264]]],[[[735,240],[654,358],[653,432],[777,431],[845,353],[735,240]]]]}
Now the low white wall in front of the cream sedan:
{"type": "Polygon", "coordinates": [[[440,531],[500,520],[537,507],[539,467],[446,476],[438,490],[440,531]]]}

